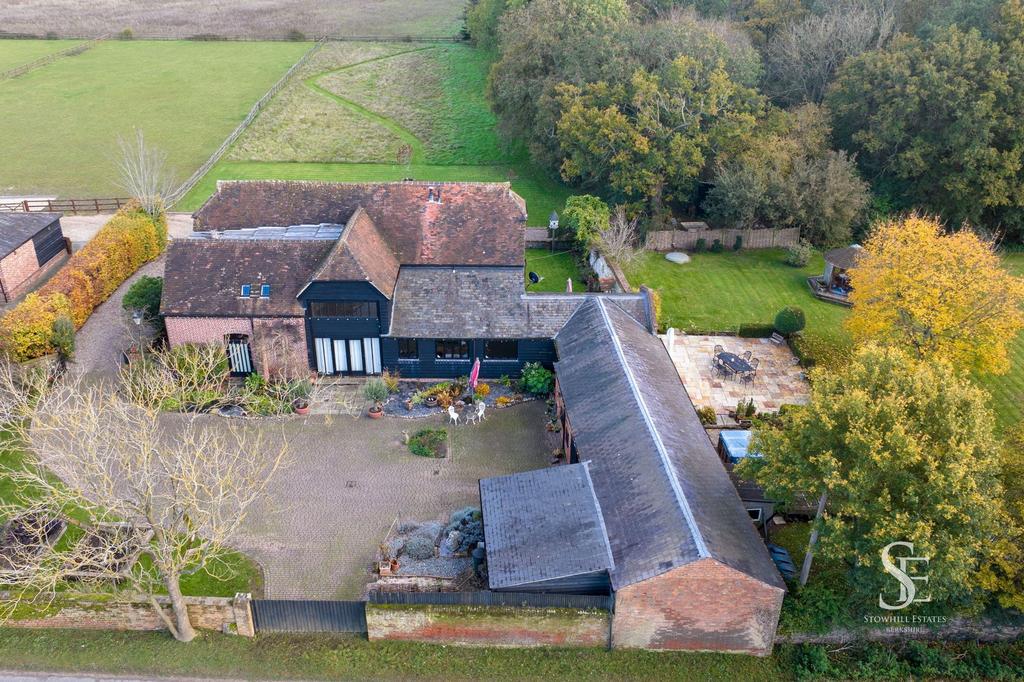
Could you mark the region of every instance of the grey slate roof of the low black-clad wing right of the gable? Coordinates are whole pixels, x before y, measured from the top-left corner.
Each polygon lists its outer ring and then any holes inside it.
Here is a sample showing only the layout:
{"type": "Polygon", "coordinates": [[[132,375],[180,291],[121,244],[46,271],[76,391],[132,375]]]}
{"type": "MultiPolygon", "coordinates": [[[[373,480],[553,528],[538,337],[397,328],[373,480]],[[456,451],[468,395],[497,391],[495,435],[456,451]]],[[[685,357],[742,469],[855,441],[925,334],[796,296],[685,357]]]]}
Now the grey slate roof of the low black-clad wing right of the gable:
{"type": "Polygon", "coordinates": [[[403,266],[388,336],[550,339],[597,296],[649,325],[640,294],[527,294],[521,267],[403,266]]]}

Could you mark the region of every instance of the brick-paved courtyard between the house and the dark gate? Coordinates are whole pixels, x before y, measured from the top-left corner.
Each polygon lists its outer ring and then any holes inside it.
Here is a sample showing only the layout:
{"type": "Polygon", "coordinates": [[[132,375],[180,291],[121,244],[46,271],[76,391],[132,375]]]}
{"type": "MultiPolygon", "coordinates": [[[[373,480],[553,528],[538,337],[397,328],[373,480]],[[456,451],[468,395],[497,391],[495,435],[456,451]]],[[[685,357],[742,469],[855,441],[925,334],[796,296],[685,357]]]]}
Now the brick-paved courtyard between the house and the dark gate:
{"type": "Polygon", "coordinates": [[[411,454],[402,432],[441,426],[440,416],[253,422],[268,438],[283,425],[291,465],[232,544],[263,566],[269,598],[357,598],[396,518],[446,517],[480,504],[481,477],[550,466],[544,413],[541,400],[488,411],[480,425],[450,429],[439,460],[411,454]]]}

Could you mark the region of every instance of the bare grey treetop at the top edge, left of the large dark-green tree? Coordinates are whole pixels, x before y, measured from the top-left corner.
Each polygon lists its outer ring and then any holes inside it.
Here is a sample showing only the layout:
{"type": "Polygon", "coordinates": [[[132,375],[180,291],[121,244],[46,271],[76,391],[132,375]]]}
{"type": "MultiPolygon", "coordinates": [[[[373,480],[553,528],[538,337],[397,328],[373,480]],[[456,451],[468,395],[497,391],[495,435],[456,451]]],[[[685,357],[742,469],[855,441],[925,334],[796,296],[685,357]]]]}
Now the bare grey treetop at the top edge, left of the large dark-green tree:
{"type": "Polygon", "coordinates": [[[893,37],[895,5],[894,0],[845,0],[790,24],[767,46],[766,90],[785,103],[820,102],[844,61],[893,37]]]}

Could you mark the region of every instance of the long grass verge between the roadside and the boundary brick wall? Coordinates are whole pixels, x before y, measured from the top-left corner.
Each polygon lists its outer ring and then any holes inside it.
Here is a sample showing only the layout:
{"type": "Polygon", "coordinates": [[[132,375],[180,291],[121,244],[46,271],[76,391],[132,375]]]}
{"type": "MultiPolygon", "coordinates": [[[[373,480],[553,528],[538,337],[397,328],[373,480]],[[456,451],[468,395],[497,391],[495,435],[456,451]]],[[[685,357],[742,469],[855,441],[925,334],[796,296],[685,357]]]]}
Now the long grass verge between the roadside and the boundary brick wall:
{"type": "Polygon", "coordinates": [[[499,649],[354,637],[204,633],[189,644],[164,633],[0,630],[4,670],[111,672],[197,679],[792,680],[788,652],[771,658],[714,653],[499,649]]]}

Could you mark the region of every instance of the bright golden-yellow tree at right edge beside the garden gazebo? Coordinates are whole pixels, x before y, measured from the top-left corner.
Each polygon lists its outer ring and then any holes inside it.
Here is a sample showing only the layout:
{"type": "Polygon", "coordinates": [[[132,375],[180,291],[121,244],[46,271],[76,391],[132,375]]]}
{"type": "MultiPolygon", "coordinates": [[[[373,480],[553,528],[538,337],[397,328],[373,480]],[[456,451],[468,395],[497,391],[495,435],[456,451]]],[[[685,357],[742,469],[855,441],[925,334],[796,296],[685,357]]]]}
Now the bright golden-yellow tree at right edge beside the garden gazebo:
{"type": "Polygon", "coordinates": [[[850,271],[858,342],[897,345],[919,358],[1004,374],[1007,346],[1024,328],[1024,280],[991,242],[911,216],[879,224],[850,271]]]}

